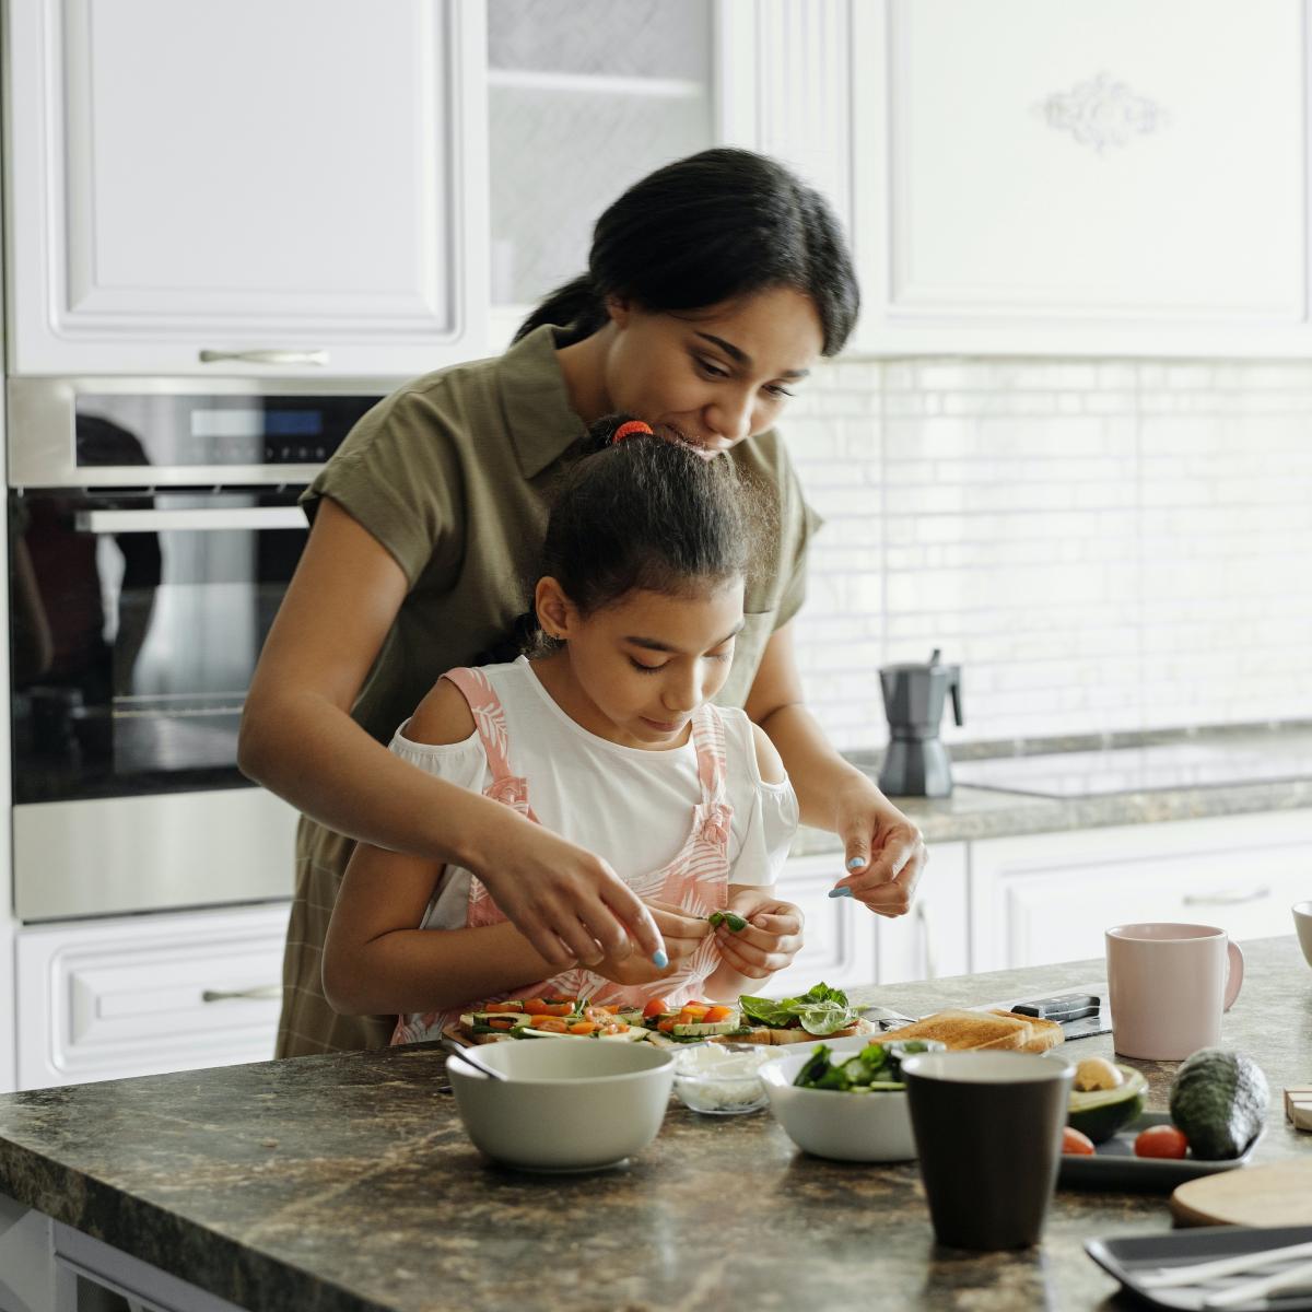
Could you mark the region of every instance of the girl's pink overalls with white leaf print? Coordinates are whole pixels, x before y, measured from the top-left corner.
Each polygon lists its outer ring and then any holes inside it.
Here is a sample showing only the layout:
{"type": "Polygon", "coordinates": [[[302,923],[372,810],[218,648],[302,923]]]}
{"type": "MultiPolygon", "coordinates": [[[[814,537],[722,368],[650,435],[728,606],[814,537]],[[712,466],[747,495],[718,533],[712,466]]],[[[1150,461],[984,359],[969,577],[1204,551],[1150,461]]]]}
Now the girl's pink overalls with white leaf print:
{"type": "MultiPolygon", "coordinates": [[[[487,676],[480,669],[453,669],[442,676],[464,694],[474,712],[483,750],[492,770],[492,782],[483,790],[520,815],[539,823],[529,804],[527,779],[510,769],[510,743],[506,733],[505,708],[487,676]]],[[[649,875],[628,880],[628,887],[639,897],[655,897],[678,907],[690,916],[708,916],[728,901],[728,844],[733,811],[724,791],[724,722],[708,702],[693,715],[693,744],[697,748],[697,775],[702,799],[693,807],[691,825],[678,855],[649,875]]],[[[497,925],[506,917],[492,900],[487,887],[478,879],[470,880],[470,900],[466,909],[467,928],[497,925]]],[[[505,1001],[522,997],[586,997],[597,1005],[619,1002],[625,1006],[643,1006],[653,997],[665,998],[670,1006],[697,996],[702,981],[719,964],[714,935],[707,935],[702,946],[674,974],[652,984],[614,984],[594,975],[583,966],[564,971],[550,980],[527,984],[495,998],[471,998],[470,1002],[505,1001]]],[[[461,1008],[450,1012],[421,1012],[398,1018],[392,1043],[416,1043],[437,1038],[442,1029],[454,1023],[461,1008]]]]}

